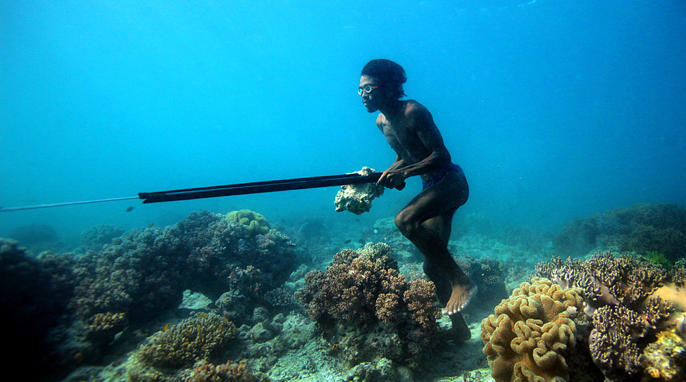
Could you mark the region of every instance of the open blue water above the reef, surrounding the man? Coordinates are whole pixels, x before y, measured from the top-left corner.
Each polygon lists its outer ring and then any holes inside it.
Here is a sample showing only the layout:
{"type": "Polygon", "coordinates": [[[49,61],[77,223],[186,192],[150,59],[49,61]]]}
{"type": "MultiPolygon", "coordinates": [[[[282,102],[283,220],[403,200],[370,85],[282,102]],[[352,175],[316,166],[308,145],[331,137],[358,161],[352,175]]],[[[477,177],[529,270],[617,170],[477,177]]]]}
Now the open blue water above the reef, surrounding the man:
{"type": "MultiPolygon", "coordinates": [[[[394,153],[356,94],[373,58],[404,66],[464,168],[460,213],[554,232],[684,205],[685,4],[0,0],[0,205],[385,170],[394,153]]],[[[200,209],[371,225],[419,189],[360,217],[334,211],[335,188],[1,212],[0,236],[200,209]]]]}

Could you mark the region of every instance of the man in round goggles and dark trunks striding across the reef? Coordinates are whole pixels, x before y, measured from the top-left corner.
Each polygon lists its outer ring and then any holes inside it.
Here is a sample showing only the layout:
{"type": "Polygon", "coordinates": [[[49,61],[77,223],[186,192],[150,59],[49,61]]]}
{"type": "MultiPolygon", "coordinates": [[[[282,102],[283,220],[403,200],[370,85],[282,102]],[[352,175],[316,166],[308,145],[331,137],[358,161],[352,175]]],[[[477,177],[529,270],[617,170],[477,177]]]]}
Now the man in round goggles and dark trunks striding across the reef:
{"type": "Polygon", "coordinates": [[[469,328],[460,311],[475,295],[477,286],[448,252],[455,211],[466,203],[469,189],[462,169],[451,163],[450,153],[431,113],[406,96],[405,70],[385,59],[372,60],[362,69],[358,93],[369,113],[380,111],[376,125],[397,153],[378,184],[401,190],[405,179],[419,175],[423,191],[395,217],[401,233],[425,256],[424,272],[436,286],[438,299],[449,314],[456,340],[468,340],[469,328]]]}

